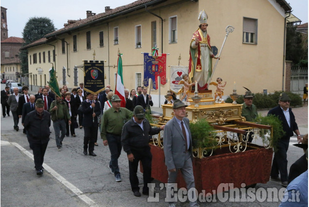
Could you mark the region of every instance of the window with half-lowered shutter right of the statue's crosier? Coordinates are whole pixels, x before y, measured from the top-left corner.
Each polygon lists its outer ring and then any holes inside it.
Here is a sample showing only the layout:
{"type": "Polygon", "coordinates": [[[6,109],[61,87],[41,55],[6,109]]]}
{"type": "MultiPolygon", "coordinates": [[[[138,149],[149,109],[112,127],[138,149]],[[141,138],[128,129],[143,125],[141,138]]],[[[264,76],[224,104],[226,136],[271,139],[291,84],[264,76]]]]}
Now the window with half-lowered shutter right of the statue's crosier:
{"type": "Polygon", "coordinates": [[[257,44],[257,19],[243,18],[242,42],[257,44]]]}

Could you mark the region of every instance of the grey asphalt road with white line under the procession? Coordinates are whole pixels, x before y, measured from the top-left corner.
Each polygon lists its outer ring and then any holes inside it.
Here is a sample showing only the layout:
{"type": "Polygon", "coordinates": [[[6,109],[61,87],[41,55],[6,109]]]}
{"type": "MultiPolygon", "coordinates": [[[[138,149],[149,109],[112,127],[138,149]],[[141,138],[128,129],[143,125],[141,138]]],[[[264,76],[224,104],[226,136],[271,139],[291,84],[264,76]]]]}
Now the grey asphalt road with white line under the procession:
{"type": "MultiPolygon", "coordinates": [[[[1,90],[4,84],[1,84],[1,90]]],[[[295,112],[294,109],[293,111],[295,112]]],[[[308,132],[308,107],[307,120],[302,120],[302,134],[308,132]],[[307,125],[306,125],[307,123],[307,125]]],[[[305,112],[303,112],[305,113],[305,112]]],[[[55,132],[51,126],[51,136],[44,160],[44,175],[37,176],[34,169],[32,151],[29,148],[27,137],[19,131],[13,130],[13,117],[0,116],[0,157],[1,157],[1,207],[166,207],[164,202],[165,190],[160,190],[160,182],[156,184],[159,193],[158,202],[148,202],[148,196],[135,197],[130,189],[128,161],[124,151],[119,158],[122,182],[115,182],[114,176],[108,169],[110,153],[98,138],[98,147],[95,147],[96,157],[83,154],[84,131],[76,129],[77,137],[65,137],[62,151],[57,151],[55,132]]],[[[296,143],[292,137],[291,144],[296,143]]],[[[288,168],[301,155],[300,148],[290,145],[288,151],[288,168]]],[[[250,173],[249,171],[247,173],[250,173]]],[[[142,183],[142,173],[138,173],[142,183]]],[[[142,187],[143,185],[141,185],[142,187]]],[[[280,189],[278,182],[269,181],[267,184],[257,184],[256,190],[267,188],[280,189]]],[[[222,194],[221,194],[222,195],[222,194]]],[[[236,193],[237,195],[237,193],[236,193]]],[[[220,194],[219,194],[220,196],[220,194]]],[[[246,196],[247,197],[247,196],[246,196]]],[[[230,197],[231,198],[231,197],[230,197]]],[[[276,198],[276,196],[274,196],[276,198]]],[[[200,207],[277,207],[280,201],[268,202],[267,194],[261,199],[246,202],[241,198],[239,202],[220,202],[218,196],[215,202],[202,202],[200,207]]],[[[188,206],[187,202],[178,202],[178,206],[188,206]]]]}

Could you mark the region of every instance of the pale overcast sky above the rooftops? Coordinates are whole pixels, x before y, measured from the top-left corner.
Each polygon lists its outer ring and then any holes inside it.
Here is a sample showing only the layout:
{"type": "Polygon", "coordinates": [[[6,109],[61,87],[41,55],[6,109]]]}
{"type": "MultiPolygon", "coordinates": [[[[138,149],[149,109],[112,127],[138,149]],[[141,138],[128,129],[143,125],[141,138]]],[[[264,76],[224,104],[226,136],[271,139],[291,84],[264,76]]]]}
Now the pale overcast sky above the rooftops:
{"type": "MultiPolygon", "coordinates": [[[[1,6],[7,8],[9,37],[22,38],[22,31],[31,17],[48,17],[57,29],[63,28],[68,19],[85,19],[86,11],[102,13],[105,6],[111,9],[123,6],[135,0],[1,0],[1,6]]],[[[302,23],[308,22],[308,0],[286,0],[292,7],[292,14],[302,23]]],[[[198,14],[197,14],[198,15],[198,14]]]]}

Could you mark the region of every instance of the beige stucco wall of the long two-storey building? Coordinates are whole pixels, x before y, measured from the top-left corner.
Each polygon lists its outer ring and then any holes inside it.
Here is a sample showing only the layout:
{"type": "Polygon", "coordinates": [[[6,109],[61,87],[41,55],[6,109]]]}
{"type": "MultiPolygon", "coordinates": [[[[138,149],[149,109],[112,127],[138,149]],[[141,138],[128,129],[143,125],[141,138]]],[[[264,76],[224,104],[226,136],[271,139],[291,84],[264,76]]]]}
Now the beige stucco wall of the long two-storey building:
{"type": "MultiPolygon", "coordinates": [[[[178,57],[181,54],[180,65],[188,66],[189,42],[192,34],[198,29],[198,15],[200,10],[205,9],[208,15],[208,33],[211,37],[211,45],[221,48],[225,37],[227,25],[235,27],[230,33],[224,45],[221,60],[219,60],[213,81],[216,77],[221,77],[227,81],[225,95],[231,94],[236,82],[238,94],[243,94],[249,88],[254,93],[263,92],[267,89],[269,93],[282,89],[282,64],[283,64],[283,33],[284,17],[273,7],[268,0],[248,1],[248,0],[200,0],[198,2],[185,1],[174,3],[170,0],[160,4],[160,8],[149,7],[148,9],[164,19],[164,53],[169,53],[166,62],[166,77],[168,78],[169,66],[178,65],[178,57]],[[172,5],[170,5],[172,4],[172,5]],[[177,43],[169,42],[169,17],[177,16],[177,43]],[[243,17],[257,19],[258,32],[257,44],[242,43],[243,17]]],[[[69,88],[78,87],[73,83],[74,65],[83,64],[82,60],[92,60],[95,50],[96,60],[106,60],[105,62],[105,84],[110,84],[114,89],[114,74],[117,72],[117,52],[118,49],[123,54],[123,75],[124,85],[128,89],[136,87],[135,74],[144,75],[143,54],[141,52],[151,52],[151,21],[157,22],[157,47],[161,53],[161,20],[145,10],[129,13],[127,16],[120,16],[109,19],[109,23],[101,22],[86,29],[73,31],[71,35],[58,36],[65,38],[69,43],[69,75],[66,78],[69,88]],[[135,26],[141,25],[142,47],[135,47],[135,26]],[[119,44],[114,45],[113,28],[118,27],[119,44]],[[86,32],[91,31],[91,50],[86,49],[86,32]],[[104,31],[104,47],[99,47],[99,32],[104,31]],[[108,35],[109,34],[109,35],[108,35]],[[77,52],[73,52],[73,35],[77,35],[77,52]],[[109,37],[109,39],[108,39],[109,37]]],[[[67,54],[61,52],[61,40],[56,40],[56,68],[58,83],[62,84],[62,67],[67,68],[67,54]]],[[[29,54],[47,49],[53,50],[49,45],[42,45],[29,49],[29,54]]],[[[47,58],[46,58],[47,61],[47,58]]],[[[214,65],[215,62],[213,62],[214,65]]],[[[39,64],[38,64],[39,65],[39,64]]],[[[37,73],[38,65],[29,65],[29,73],[37,73]]],[[[44,67],[44,73],[48,73],[50,63],[45,63],[39,67],[44,67]],[[45,68],[47,70],[45,70],[45,68]]],[[[48,76],[48,74],[47,74],[48,76]]],[[[49,76],[48,76],[49,77],[49,76]]],[[[78,69],[78,82],[83,82],[83,71],[78,69]]],[[[31,83],[31,81],[30,81],[31,83]]],[[[164,94],[169,89],[169,82],[160,88],[161,104],[164,102],[164,94]]],[[[215,90],[210,86],[210,90],[215,90]]],[[[149,91],[149,90],[148,90],[149,91]]],[[[151,91],[156,99],[155,106],[159,106],[159,90],[151,91]]]]}

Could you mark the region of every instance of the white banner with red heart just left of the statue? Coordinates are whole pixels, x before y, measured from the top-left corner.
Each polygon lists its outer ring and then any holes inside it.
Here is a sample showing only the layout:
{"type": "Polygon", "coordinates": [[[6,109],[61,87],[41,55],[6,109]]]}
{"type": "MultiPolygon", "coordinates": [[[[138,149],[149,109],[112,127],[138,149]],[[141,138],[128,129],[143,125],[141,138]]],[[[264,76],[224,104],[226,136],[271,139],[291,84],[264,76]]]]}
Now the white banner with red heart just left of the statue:
{"type": "Polygon", "coordinates": [[[183,86],[183,84],[178,85],[178,83],[182,80],[183,74],[188,74],[188,66],[171,66],[170,70],[170,90],[178,94],[183,86]]]}

